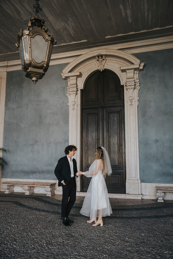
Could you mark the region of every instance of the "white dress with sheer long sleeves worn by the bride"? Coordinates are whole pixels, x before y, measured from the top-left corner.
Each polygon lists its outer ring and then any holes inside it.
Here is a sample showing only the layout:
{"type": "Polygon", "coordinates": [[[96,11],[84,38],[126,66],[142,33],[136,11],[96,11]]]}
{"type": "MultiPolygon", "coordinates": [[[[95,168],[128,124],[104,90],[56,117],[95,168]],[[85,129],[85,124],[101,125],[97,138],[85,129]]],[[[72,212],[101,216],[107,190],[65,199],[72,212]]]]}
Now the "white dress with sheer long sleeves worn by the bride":
{"type": "Polygon", "coordinates": [[[109,202],[106,182],[102,174],[101,159],[95,160],[89,171],[83,172],[86,177],[92,177],[80,213],[96,219],[110,216],[112,208],[109,202]]]}

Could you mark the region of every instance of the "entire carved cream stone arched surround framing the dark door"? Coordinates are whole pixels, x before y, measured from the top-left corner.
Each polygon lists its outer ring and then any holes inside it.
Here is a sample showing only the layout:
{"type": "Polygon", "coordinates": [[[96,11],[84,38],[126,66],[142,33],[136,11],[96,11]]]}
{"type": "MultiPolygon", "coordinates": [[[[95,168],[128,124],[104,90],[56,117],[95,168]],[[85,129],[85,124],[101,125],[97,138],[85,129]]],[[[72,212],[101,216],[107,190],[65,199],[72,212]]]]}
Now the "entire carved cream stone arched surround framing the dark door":
{"type": "MultiPolygon", "coordinates": [[[[115,49],[99,49],[83,54],[69,63],[63,73],[68,80],[67,96],[69,106],[69,143],[78,147],[77,163],[80,169],[81,140],[81,96],[86,79],[96,70],[109,69],[120,78],[124,85],[125,139],[126,139],[126,195],[141,199],[141,182],[139,174],[139,146],[137,105],[140,89],[139,70],[144,63],[124,51],[115,49]],[[99,64],[98,64],[99,62],[99,64]]],[[[101,73],[101,72],[100,72],[101,73]]],[[[77,191],[80,191],[80,179],[77,180],[77,191]]],[[[114,195],[116,196],[116,195],[114,195]]],[[[122,195],[117,195],[121,196],[122,195]]]]}

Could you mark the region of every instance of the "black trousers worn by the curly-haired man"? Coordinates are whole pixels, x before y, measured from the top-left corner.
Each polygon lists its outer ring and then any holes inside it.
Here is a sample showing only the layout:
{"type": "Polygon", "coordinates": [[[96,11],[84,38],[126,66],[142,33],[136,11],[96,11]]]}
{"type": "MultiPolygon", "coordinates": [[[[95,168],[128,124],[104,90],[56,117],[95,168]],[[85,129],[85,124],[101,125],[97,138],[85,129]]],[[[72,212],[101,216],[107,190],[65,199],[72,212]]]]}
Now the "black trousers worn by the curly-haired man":
{"type": "Polygon", "coordinates": [[[76,200],[76,179],[71,178],[67,185],[63,185],[63,198],[61,202],[61,217],[67,218],[76,200]],[[68,200],[68,198],[70,199],[68,200]]]}

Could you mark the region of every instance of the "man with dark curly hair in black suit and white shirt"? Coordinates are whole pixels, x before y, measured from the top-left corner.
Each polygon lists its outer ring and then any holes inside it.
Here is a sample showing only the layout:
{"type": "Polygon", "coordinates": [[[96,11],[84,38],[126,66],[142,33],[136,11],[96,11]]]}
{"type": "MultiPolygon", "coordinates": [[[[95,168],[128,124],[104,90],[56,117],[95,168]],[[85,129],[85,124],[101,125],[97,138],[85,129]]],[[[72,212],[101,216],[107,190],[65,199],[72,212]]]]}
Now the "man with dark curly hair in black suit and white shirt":
{"type": "Polygon", "coordinates": [[[63,198],[61,202],[61,218],[65,226],[70,226],[73,221],[68,215],[76,200],[76,178],[81,172],[77,170],[76,160],[72,157],[76,153],[77,147],[70,145],[64,150],[66,156],[58,160],[54,173],[58,179],[58,186],[63,187],[63,198]],[[69,201],[68,198],[70,197],[69,201]]]}

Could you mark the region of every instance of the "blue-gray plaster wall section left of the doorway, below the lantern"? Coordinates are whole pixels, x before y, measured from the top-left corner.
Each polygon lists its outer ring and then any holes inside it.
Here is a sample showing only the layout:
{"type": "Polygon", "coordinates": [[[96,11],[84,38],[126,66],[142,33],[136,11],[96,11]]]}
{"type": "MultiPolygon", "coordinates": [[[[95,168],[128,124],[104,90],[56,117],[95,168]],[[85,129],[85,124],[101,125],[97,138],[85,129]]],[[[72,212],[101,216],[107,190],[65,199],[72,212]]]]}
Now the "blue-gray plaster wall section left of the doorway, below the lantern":
{"type": "Polygon", "coordinates": [[[36,85],[22,70],[7,72],[2,178],[56,179],[69,139],[66,66],[50,66],[36,85]]]}

